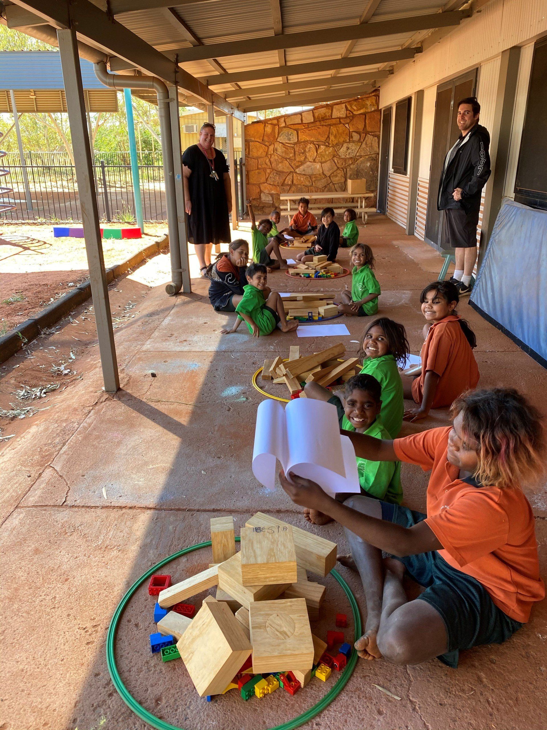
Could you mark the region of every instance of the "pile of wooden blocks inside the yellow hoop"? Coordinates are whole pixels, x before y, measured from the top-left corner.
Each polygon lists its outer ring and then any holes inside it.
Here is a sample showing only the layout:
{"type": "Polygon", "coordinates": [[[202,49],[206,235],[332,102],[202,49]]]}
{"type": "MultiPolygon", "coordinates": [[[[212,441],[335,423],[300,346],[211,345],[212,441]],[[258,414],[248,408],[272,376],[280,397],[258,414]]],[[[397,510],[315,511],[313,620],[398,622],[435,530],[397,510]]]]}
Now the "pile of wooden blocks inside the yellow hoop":
{"type": "Polygon", "coordinates": [[[359,358],[347,360],[338,359],[346,352],[342,342],[338,345],[327,347],[320,353],[300,357],[300,347],[290,347],[288,361],[281,357],[274,360],[266,360],[262,368],[262,380],[284,383],[289,388],[291,396],[300,391],[300,398],[305,398],[303,383],[319,383],[324,388],[341,378],[345,383],[359,371],[359,358]]]}

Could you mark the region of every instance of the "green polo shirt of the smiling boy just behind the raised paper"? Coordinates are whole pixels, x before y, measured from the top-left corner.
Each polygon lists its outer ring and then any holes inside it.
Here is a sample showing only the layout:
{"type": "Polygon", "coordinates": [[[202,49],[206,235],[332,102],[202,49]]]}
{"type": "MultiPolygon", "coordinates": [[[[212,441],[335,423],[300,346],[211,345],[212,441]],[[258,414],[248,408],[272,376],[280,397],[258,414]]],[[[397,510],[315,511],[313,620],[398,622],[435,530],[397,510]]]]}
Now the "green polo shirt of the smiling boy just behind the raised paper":
{"type": "MultiPolygon", "coordinates": [[[[338,410],[338,423],[344,431],[354,431],[354,427],[346,418],[344,405],[338,396],[329,399],[338,410]],[[338,401],[338,402],[336,402],[338,401]]],[[[390,436],[379,415],[374,423],[365,431],[366,436],[375,439],[389,439],[390,436]]],[[[361,490],[371,497],[383,499],[384,502],[400,504],[403,502],[403,487],[400,483],[400,461],[371,461],[357,456],[357,473],[361,490]]]]}

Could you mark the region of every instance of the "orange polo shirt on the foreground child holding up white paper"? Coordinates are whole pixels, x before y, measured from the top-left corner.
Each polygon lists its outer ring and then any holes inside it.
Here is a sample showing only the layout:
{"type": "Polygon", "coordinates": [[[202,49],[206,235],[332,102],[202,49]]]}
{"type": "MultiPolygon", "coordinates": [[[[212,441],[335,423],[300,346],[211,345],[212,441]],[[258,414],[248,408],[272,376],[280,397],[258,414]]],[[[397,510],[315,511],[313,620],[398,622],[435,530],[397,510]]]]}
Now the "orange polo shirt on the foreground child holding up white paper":
{"type": "Polygon", "coordinates": [[[528,621],[532,604],[545,596],[532,508],[518,486],[461,480],[446,457],[450,429],[395,439],[397,459],[431,469],[425,521],[443,545],[439,555],[482,583],[508,616],[528,621]]]}

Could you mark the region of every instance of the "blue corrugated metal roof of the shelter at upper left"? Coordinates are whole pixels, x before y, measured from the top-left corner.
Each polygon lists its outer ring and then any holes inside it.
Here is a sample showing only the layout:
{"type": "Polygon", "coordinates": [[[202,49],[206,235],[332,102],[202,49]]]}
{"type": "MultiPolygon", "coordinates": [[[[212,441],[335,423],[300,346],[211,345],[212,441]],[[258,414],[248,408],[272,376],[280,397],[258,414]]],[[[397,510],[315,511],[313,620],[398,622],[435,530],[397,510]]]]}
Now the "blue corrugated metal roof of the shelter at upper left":
{"type": "MultiPolygon", "coordinates": [[[[85,89],[103,89],[93,71],[93,64],[79,59],[85,89]]],[[[61,58],[57,51],[0,52],[0,85],[7,89],[63,89],[61,58]]]]}

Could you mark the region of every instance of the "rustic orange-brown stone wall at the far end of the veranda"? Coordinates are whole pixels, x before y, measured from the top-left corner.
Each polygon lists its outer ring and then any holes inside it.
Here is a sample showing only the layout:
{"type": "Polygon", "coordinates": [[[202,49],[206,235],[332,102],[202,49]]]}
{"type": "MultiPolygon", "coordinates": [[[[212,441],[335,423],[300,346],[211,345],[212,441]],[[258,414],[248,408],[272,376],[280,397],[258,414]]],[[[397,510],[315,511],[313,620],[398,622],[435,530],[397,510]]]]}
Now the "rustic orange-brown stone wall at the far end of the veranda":
{"type": "MultiPolygon", "coordinates": [[[[380,138],[378,92],[245,126],[247,197],[259,212],[280,193],[344,192],[348,179],[376,191],[380,138]]],[[[376,206],[376,196],[368,199],[376,206]]]]}

